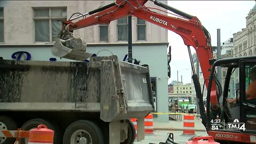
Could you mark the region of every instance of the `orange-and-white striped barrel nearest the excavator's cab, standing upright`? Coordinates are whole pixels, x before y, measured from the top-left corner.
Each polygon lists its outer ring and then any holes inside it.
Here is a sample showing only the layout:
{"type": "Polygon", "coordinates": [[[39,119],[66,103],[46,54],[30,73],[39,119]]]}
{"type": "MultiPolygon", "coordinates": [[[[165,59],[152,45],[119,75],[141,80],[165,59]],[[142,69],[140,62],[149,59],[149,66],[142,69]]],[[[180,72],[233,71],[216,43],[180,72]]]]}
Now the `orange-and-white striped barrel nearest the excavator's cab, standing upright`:
{"type": "Polygon", "coordinates": [[[184,115],[182,135],[196,135],[194,115],[184,115]]]}

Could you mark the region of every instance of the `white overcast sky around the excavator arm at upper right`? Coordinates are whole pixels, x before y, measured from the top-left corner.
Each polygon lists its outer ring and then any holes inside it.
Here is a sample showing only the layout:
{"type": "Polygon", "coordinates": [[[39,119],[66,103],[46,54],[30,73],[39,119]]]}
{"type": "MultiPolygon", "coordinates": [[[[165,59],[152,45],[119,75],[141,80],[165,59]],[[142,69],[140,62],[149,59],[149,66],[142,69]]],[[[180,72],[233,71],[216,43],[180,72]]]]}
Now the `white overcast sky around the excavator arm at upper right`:
{"type": "MultiPolygon", "coordinates": [[[[212,46],[217,46],[217,29],[220,29],[221,42],[225,42],[233,37],[234,33],[246,28],[245,17],[255,5],[255,1],[168,1],[168,5],[196,16],[209,31],[212,46]]],[[[169,83],[177,81],[177,70],[179,70],[179,81],[182,75],[183,83],[191,83],[191,65],[187,46],[178,34],[170,30],[168,37],[169,45],[172,46],[169,83]]],[[[193,47],[191,51],[195,52],[193,47]]]]}

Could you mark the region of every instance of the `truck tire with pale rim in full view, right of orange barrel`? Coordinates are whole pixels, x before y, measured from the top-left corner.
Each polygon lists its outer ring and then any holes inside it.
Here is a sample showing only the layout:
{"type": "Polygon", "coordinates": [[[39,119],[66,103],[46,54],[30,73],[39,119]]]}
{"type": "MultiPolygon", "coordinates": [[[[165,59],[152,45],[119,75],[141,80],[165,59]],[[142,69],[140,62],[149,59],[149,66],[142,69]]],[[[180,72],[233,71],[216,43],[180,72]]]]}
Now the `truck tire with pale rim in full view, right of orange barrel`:
{"type": "Polygon", "coordinates": [[[71,123],[64,135],[63,144],[78,143],[104,143],[103,134],[99,127],[87,120],[79,120],[71,123]]]}

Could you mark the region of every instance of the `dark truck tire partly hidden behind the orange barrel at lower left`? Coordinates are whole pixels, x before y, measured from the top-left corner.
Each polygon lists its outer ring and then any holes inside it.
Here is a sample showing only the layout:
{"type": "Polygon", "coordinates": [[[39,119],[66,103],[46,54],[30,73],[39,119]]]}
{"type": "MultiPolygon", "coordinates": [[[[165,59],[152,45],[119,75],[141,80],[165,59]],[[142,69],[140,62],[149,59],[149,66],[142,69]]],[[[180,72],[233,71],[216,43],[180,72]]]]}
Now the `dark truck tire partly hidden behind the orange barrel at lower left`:
{"type": "MultiPolygon", "coordinates": [[[[53,143],[54,144],[59,144],[61,143],[61,134],[60,134],[60,129],[58,127],[58,125],[53,125],[53,123],[46,121],[45,119],[41,119],[41,118],[34,118],[34,119],[30,119],[29,121],[27,121],[25,124],[23,124],[21,126],[21,130],[23,131],[29,131],[31,129],[35,129],[38,125],[44,124],[47,126],[47,129],[53,130],[54,131],[54,137],[53,137],[53,143]]],[[[28,139],[23,138],[20,140],[21,144],[27,144],[28,143],[28,139]]]]}

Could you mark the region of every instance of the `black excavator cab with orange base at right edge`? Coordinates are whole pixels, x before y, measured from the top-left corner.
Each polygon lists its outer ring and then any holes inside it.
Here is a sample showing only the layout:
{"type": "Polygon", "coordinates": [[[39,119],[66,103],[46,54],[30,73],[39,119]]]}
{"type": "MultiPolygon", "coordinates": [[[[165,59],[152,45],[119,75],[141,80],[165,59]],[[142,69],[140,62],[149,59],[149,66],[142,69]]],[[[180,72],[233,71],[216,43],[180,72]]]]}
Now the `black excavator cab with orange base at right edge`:
{"type": "Polygon", "coordinates": [[[210,109],[211,86],[207,89],[207,132],[215,140],[256,142],[256,57],[220,59],[213,63],[209,85],[215,81],[220,109],[210,109]],[[221,82],[215,70],[221,67],[221,82]],[[221,88],[222,87],[222,88],[221,88]],[[255,94],[254,94],[255,93],[255,94]],[[236,99],[229,103],[227,99],[236,99]],[[210,112],[210,113],[209,113],[210,112]]]}

